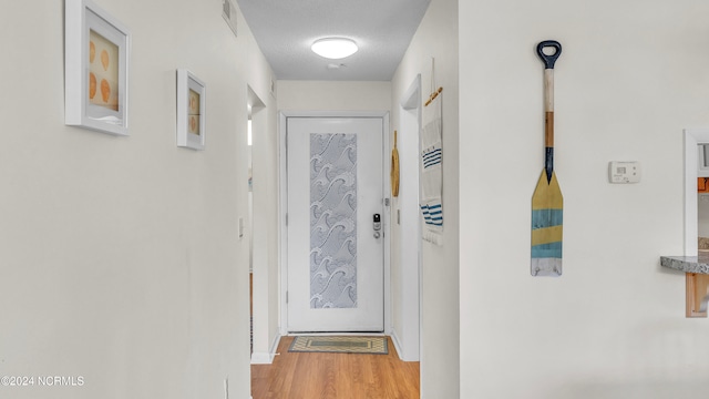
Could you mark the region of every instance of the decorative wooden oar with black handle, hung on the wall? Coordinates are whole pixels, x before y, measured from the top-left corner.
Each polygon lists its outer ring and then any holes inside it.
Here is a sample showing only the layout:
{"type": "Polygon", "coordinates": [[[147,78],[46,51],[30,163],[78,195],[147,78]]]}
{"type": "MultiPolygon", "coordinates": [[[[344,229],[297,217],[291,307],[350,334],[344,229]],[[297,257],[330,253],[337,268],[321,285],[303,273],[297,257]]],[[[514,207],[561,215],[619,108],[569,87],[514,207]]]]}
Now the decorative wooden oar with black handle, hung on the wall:
{"type": "Polygon", "coordinates": [[[562,54],[562,44],[545,40],[536,53],[544,62],[544,168],[532,196],[532,276],[562,275],[562,227],[564,197],[554,173],[554,63],[562,54]],[[553,54],[544,49],[553,48],[553,54]]]}

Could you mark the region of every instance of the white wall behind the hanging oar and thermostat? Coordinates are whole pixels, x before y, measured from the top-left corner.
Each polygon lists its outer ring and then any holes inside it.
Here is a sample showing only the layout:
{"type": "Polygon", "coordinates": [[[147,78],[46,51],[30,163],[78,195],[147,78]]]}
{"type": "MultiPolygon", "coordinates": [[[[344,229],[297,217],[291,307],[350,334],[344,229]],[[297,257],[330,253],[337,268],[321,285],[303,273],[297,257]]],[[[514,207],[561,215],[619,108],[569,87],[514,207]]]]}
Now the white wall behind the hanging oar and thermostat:
{"type": "Polygon", "coordinates": [[[709,124],[709,3],[460,3],[461,398],[706,395],[706,319],[685,318],[682,129],[709,124]],[[543,64],[558,40],[564,276],[530,276],[543,64]],[[643,181],[607,182],[609,161],[643,181]]]}

